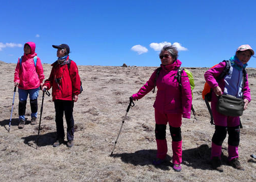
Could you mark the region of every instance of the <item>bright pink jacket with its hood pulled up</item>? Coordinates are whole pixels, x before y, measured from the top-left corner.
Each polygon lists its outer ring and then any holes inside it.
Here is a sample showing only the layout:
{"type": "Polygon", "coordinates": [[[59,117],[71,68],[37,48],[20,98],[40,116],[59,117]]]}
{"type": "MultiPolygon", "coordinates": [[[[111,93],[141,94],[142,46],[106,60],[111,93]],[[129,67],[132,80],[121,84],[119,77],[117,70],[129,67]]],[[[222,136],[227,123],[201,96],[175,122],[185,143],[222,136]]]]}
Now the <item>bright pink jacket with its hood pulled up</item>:
{"type": "Polygon", "coordinates": [[[30,46],[31,52],[23,55],[21,67],[18,59],[14,73],[14,82],[18,82],[19,88],[23,90],[38,88],[45,78],[40,58],[37,57],[37,66],[34,63],[34,57],[37,55],[35,52],[36,44],[33,42],[27,42],[26,44],[30,46]]]}

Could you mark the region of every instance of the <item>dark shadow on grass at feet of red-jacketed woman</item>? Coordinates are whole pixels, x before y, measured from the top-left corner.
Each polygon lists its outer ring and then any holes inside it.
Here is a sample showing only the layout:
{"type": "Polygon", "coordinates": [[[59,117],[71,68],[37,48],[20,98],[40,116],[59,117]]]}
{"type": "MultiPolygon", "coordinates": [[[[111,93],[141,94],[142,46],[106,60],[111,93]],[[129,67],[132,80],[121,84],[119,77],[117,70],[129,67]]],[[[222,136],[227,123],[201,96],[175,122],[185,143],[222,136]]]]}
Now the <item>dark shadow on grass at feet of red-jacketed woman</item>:
{"type": "MultiPolygon", "coordinates": [[[[30,147],[35,148],[35,144],[37,144],[38,135],[30,135],[26,137],[22,137],[24,143],[30,147]],[[35,144],[33,144],[35,143],[35,144]]],[[[47,145],[52,145],[56,140],[56,132],[49,132],[46,134],[39,134],[38,138],[38,147],[44,147],[47,145]]]]}

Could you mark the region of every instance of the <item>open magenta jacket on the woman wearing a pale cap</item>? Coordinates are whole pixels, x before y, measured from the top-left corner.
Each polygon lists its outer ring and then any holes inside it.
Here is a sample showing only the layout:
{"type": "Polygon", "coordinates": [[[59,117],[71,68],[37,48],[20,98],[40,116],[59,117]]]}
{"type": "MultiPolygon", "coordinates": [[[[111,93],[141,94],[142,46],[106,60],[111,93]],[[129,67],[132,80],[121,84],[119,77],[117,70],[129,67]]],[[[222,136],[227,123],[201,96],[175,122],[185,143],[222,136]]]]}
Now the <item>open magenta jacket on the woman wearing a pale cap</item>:
{"type": "MultiPolygon", "coordinates": [[[[225,62],[220,62],[215,67],[212,67],[209,70],[207,70],[204,74],[205,80],[209,84],[209,86],[212,89],[219,86],[222,90],[222,93],[225,90],[225,85],[228,84],[228,83],[225,83],[225,77],[223,79],[221,79],[219,81],[219,83],[216,81],[215,78],[218,78],[218,76],[225,69],[225,67],[226,67],[226,63],[225,62]]],[[[233,69],[236,69],[236,68],[233,67],[233,69]]],[[[229,77],[232,78],[231,81],[233,82],[233,85],[237,85],[237,87],[240,87],[242,85],[240,83],[242,82],[242,74],[243,73],[242,73],[242,70],[240,70],[238,72],[239,72],[239,74],[234,75],[234,76],[230,75],[229,77]]],[[[236,88],[236,89],[239,90],[239,88],[236,88]]],[[[241,88],[240,88],[240,90],[241,90],[241,88]]],[[[215,94],[213,94],[213,95],[215,95],[215,94]]],[[[236,96],[236,95],[234,95],[234,96],[236,96]]],[[[244,87],[243,87],[243,99],[245,99],[245,98],[250,102],[251,97],[250,97],[250,88],[249,88],[249,83],[248,83],[248,74],[246,74],[246,81],[245,81],[244,87]]]]}

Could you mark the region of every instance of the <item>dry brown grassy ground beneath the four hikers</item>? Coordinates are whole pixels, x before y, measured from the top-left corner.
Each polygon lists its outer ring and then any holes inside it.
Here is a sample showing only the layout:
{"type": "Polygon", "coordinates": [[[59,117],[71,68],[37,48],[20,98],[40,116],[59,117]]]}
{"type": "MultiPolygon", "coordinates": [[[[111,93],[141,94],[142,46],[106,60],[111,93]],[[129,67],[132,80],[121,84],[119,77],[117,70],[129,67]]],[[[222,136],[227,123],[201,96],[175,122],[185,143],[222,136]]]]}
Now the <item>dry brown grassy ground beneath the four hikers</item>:
{"type": "MultiPolygon", "coordinates": [[[[18,93],[16,92],[11,131],[8,125],[13,99],[15,64],[0,62],[0,181],[256,181],[256,79],[248,68],[252,101],[242,116],[240,162],[245,171],[227,164],[227,138],[222,145],[224,172],[211,170],[209,164],[211,126],[201,97],[203,74],[207,68],[189,68],[195,77],[193,104],[198,121],[183,119],[182,171],[172,169],[171,136],[167,131],[169,151],[166,162],[151,164],[156,154],[154,139],[155,94],[150,92],[135,102],[113,145],[129,104],[129,97],[148,80],[155,67],[78,66],[84,91],[74,107],[75,145],[53,148],[55,113],[51,97],[45,96],[39,148],[36,150],[38,125],[31,126],[27,103],[27,124],[18,129],[18,93]]],[[[46,78],[51,66],[43,64],[46,78]]],[[[42,92],[39,95],[39,116],[42,92]]],[[[66,128],[66,123],[65,123],[66,128]]]]}

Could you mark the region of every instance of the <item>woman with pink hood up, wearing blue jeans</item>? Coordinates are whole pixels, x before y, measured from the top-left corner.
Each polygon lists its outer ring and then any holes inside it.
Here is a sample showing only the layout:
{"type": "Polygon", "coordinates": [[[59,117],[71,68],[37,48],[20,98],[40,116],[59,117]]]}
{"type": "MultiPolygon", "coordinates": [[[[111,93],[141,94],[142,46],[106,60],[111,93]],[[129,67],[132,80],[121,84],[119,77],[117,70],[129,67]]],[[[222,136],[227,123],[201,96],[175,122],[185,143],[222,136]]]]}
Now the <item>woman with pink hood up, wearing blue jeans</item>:
{"type": "Polygon", "coordinates": [[[24,45],[24,54],[18,59],[14,73],[14,86],[19,87],[19,125],[24,128],[26,100],[29,94],[31,108],[31,125],[37,124],[38,93],[43,85],[44,71],[41,60],[35,52],[36,44],[27,42],[24,45]]]}

